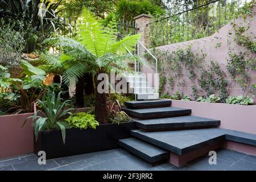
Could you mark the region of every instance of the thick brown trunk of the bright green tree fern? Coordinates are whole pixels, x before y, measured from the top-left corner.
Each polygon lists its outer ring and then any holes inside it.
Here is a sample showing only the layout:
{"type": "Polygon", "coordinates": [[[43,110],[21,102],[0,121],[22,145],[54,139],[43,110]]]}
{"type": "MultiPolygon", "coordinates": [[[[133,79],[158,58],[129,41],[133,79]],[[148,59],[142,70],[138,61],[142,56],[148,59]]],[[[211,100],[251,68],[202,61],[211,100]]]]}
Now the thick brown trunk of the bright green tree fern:
{"type": "Polygon", "coordinates": [[[97,80],[97,76],[95,77],[96,82],[96,103],[95,103],[95,113],[96,120],[100,124],[109,123],[109,112],[108,112],[108,93],[98,93],[97,86],[101,82],[101,80],[97,80]]]}

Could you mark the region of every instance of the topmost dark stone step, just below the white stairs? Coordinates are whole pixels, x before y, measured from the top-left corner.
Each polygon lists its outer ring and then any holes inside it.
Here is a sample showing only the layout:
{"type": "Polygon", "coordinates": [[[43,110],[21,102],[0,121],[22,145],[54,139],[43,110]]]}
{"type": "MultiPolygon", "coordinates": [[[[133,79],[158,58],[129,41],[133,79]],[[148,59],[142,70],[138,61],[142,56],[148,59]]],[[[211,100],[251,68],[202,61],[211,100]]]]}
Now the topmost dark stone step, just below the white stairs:
{"type": "Polygon", "coordinates": [[[151,101],[127,101],[125,105],[129,108],[153,108],[153,107],[168,107],[171,106],[171,100],[151,100],[151,101]]]}

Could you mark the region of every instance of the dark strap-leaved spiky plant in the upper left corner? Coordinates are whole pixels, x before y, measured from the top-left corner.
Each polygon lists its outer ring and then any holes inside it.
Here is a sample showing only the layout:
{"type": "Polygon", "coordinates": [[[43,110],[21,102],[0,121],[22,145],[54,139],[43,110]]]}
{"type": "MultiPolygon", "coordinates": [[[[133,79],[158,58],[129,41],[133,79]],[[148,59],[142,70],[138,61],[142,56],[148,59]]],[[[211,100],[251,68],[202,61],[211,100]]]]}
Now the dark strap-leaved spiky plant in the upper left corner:
{"type": "MultiPolygon", "coordinates": [[[[15,24],[15,31],[21,32],[24,28],[24,41],[26,49],[23,51],[33,52],[40,48],[40,43],[49,37],[57,28],[63,27],[57,22],[55,10],[60,2],[51,3],[42,0],[20,0],[20,1],[0,1],[0,18],[5,18],[6,23],[15,24]],[[45,10],[41,6],[44,3],[45,10]]],[[[6,33],[8,34],[8,33],[6,33]]],[[[22,39],[21,39],[22,40],[22,39]]]]}

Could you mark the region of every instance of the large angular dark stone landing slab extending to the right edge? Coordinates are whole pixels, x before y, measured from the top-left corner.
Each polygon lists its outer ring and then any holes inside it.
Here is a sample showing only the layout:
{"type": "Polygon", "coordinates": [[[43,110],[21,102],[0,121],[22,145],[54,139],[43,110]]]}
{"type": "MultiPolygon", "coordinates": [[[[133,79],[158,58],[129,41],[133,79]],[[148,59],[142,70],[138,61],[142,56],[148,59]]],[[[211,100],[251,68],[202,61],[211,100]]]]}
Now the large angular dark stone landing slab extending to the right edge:
{"type": "Polygon", "coordinates": [[[256,146],[255,134],[220,128],[154,132],[132,130],[131,135],[178,155],[187,154],[224,139],[256,146]]]}

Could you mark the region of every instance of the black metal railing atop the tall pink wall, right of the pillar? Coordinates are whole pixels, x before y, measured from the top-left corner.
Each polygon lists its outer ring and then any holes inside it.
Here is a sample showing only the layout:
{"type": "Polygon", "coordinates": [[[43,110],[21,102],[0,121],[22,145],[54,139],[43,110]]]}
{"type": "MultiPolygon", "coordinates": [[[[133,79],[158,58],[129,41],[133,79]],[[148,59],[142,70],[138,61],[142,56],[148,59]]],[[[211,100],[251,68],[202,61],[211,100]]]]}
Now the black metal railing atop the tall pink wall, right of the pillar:
{"type": "Polygon", "coordinates": [[[246,0],[196,0],[170,5],[170,14],[150,26],[150,47],[210,36],[240,13],[246,0]]]}

